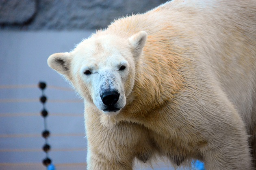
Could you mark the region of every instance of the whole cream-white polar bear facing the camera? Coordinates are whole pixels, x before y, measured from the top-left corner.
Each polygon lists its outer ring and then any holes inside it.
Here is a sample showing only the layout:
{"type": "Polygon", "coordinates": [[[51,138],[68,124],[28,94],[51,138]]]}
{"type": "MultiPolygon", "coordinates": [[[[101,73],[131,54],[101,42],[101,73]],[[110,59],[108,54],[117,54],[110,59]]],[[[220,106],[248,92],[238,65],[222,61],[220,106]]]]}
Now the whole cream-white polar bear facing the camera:
{"type": "Polygon", "coordinates": [[[48,64],[84,99],[88,169],[131,170],[158,156],[256,167],[255,0],[173,0],[48,64]]]}

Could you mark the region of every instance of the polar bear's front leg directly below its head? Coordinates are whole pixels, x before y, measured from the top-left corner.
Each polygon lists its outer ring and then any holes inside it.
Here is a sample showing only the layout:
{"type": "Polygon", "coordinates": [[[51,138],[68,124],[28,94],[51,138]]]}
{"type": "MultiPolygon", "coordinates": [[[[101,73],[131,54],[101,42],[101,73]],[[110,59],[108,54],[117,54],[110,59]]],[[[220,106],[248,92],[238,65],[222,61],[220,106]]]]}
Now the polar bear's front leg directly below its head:
{"type": "Polygon", "coordinates": [[[108,127],[97,115],[85,117],[87,169],[132,170],[137,155],[148,153],[148,131],[136,123],[119,122],[108,127]]]}

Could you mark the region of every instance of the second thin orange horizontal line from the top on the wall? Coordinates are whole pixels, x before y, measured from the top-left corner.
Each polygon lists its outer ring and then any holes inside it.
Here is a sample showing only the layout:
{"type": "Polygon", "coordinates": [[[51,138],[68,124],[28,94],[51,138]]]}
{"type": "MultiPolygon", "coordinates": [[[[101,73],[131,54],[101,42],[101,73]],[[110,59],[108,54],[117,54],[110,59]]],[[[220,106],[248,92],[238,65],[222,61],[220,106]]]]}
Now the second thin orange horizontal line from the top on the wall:
{"type": "MultiPolygon", "coordinates": [[[[0,103],[40,102],[39,98],[33,99],[0,99],[0,103]]],[[[82,100],[47,100],[46,103],[83,103],[82,100]]]]}

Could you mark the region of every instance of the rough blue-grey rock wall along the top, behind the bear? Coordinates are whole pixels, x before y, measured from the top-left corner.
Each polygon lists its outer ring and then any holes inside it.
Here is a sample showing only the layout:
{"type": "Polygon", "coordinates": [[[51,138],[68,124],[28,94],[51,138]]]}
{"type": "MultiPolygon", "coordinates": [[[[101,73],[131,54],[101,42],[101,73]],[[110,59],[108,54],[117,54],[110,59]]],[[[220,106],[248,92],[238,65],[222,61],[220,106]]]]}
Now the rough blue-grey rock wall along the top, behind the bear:
{"type": "Polygon", "coordinates": [[[167,0],[0,0],[0,30],[91,30],[167,0]]]}

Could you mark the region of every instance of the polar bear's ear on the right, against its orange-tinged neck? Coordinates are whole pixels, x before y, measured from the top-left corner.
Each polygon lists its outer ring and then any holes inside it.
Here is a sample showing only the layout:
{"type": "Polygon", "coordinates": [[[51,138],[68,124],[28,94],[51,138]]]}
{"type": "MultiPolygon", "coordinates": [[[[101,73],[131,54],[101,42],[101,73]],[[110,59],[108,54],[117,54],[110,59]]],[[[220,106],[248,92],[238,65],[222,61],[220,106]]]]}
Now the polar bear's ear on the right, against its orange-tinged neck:
{"type": "Polygon", "coordinates": [[[147,40],[147,33],[145,31],[138,32],[137,34],[132,35],[128,40],[133,48],[133,53],[135,57],[139,57],[142,52],[142,49],[147,40]]]}

